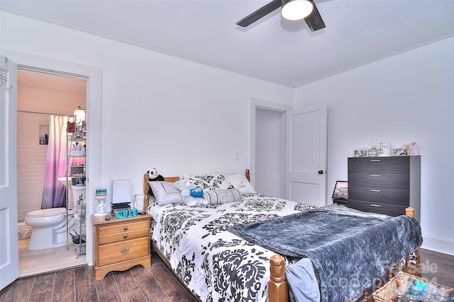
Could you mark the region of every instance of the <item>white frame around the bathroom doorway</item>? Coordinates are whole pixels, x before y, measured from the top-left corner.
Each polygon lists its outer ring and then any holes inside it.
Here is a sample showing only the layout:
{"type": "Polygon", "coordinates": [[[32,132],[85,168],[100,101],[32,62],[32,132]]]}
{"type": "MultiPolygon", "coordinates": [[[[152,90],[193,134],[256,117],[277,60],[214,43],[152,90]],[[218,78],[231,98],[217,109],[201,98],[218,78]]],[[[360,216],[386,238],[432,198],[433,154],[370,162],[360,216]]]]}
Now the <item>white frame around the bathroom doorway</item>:
{"type": "MultiPolygon", "coordinates": [[[[1,50],[1,55],[17,63],[18,69],[75,76],[87,79],[87,217],[94,214],[94,188],[101,185],[101,68],[73,62],[61,61],[25,54],[12,50],[1,50]]],[[[92,221],[87,219],[87,265],[93,265],[92,221]]],[[[17,242],[16,242],[17,244],[17,242]]]]}

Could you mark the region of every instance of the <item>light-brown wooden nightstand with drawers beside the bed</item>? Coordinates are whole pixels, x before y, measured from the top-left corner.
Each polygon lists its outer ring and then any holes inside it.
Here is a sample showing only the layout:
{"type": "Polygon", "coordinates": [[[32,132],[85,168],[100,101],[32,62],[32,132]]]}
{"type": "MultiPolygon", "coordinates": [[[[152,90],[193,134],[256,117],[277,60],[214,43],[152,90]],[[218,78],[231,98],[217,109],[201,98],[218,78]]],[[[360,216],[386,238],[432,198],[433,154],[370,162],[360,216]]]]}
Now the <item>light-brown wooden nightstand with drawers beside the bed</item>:
{"type": "Polygon", "coordinates": [[[95,280],[108,272],[151,265],[150,219],[150,214],[110,220],[92,215],[95,280]]]}

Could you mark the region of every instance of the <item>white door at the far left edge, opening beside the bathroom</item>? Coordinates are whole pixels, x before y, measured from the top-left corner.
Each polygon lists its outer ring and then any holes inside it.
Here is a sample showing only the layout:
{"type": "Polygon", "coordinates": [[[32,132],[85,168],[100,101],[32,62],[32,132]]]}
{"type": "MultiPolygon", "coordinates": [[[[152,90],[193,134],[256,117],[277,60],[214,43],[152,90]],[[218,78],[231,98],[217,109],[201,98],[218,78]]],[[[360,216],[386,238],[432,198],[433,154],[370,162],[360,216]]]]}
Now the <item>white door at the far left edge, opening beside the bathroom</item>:
{"type": "Polygon", "coordinates": [[[0,56],[0,290],[19,275],[17,243],[17,65],[0,56]]]}

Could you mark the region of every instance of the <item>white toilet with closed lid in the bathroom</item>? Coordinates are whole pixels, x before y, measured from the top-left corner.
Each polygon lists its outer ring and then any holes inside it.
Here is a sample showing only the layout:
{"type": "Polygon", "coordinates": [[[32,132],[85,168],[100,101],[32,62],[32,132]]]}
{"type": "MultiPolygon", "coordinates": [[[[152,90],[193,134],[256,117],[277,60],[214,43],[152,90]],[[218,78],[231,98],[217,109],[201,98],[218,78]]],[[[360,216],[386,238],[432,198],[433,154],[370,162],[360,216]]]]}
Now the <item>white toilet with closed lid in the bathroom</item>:
{"type": "MultiPolygon", "coordinates": [[[[56,248],[66,244],[66,209],[53,208],[28,212],[24,222],[32,232],[28,250],[56,248]]],[[[74,218],[70,224],[74,225],[74,218]]],[[[72,226],[68,226],[70,229],[72,226]]]]}

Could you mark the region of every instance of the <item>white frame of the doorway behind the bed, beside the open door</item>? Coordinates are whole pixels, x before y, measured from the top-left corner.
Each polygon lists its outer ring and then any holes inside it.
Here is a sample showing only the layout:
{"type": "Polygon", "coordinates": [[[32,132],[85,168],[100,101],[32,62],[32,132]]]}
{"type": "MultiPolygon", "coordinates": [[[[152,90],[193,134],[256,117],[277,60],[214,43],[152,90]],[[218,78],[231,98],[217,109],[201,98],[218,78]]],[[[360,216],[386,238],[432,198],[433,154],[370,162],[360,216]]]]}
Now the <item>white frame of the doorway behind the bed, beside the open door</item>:
{"type": "MultiPolygon", "coordinates": [[[[250,146],[249,146],[249,170],[250,170],[250,183],[255,187],[255,110],[263,109],[276,112],[282,112],[285,120],[285,112],[291,110],[293,106],[275,103],[269,100],[262,100],[259,98],[250,98],[250,146]]],[[[282,137],[285,138],[285,127],[283,127],[282,137]]],[[[285,175],[285,144],[282,146],[282,175],[285,175]]],[[[281,189],[284,192],[284,178],[282,178],[281,189]]]]}

